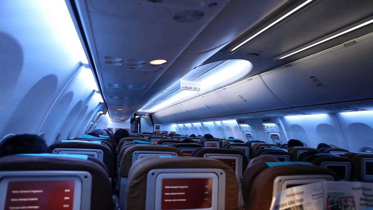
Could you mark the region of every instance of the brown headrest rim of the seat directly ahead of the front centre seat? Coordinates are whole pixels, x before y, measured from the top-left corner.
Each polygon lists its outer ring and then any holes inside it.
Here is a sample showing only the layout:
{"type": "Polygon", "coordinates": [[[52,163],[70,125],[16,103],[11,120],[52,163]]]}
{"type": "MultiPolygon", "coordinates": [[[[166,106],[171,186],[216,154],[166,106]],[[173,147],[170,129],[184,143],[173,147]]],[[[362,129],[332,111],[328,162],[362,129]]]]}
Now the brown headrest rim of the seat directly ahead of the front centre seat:
{"type": "Polygon", "coordinates": [[[161,151],[161,152],[176,152],[180,157],[184,157],[184,154],[179,149],[172,146],[162,145],[135,145],[131,146],[123,154],[122,160],[120,160],[120,176],[128,177],[129,169],[132,166],[132,154],[135,151],[161,151]]]}

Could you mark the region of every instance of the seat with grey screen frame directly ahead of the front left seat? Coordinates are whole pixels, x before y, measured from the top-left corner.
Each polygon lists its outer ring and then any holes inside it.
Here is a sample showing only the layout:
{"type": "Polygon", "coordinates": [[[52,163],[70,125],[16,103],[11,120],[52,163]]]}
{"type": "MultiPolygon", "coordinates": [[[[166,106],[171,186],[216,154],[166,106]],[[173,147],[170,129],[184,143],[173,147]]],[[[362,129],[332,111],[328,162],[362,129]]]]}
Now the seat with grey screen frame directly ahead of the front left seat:
{"type": "Polygon", "coordinates": [[[97,158],[105,164],[109,170],[109,177],[115,175],[114,157],[109,147],[104,144],[87,142],[55,142],[49,146],[52,153],[55,154],[97,154],[97,158]]]}

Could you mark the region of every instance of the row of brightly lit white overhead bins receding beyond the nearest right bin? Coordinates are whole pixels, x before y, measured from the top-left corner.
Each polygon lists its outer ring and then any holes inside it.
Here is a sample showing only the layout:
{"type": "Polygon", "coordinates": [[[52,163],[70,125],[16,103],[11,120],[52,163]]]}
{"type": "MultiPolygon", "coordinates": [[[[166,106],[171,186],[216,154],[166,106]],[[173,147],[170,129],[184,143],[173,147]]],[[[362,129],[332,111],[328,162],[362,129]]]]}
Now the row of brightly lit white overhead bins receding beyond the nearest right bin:
{"type": "Polygon", "coordinates": [[[154,118],[164,123],[282,108],[290,107],[273,95],[263,79],[256,75],[203,97],[156,112],[154,118]]]}

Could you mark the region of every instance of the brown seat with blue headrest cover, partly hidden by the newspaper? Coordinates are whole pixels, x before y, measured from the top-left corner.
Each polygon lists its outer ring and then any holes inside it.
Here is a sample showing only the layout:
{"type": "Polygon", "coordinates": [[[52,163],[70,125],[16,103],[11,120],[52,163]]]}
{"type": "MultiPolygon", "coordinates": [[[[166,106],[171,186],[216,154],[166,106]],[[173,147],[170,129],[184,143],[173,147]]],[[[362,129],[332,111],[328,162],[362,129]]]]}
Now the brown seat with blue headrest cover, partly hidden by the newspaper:
{"type": "Polygon", "coordinates": [[[282,189],[323,180],[338,180],[338,176],[311,163],[257,163],[242,176],[242,196],[247,210],[270,209],[273,195],[282,189]]]}

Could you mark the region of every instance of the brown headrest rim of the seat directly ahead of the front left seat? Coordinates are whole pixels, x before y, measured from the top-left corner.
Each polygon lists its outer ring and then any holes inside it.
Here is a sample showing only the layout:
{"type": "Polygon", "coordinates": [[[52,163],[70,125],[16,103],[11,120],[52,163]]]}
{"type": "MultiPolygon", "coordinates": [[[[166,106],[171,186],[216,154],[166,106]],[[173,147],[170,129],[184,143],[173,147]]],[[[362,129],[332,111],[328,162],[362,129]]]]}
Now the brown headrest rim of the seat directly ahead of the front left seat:
{"type": "Polygon", "coordinates": [[[109,177],[114,176],[114,157],[106,145],[85,142],[55,142],[49,146],[51,151],[56,148],[101,149],[104,152],[103,163],[106,165],[107,170],[109,171],[109,177]]]}

